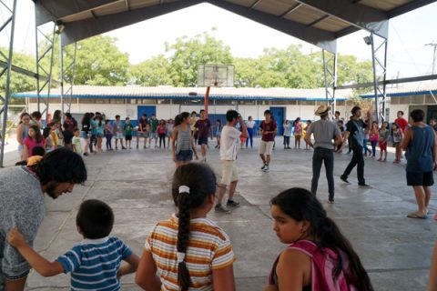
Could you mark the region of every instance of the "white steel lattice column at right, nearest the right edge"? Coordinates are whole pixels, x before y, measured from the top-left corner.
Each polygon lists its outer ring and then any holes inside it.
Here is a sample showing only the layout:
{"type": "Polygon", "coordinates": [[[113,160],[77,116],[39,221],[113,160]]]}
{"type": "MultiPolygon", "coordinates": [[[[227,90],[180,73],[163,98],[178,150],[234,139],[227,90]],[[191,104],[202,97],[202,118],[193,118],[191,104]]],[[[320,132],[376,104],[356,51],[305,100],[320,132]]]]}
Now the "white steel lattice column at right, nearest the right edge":
{"type": "Polygon", "coordinates": [[[370,36],[371,63],[373,67],[373,90],[375,94],[375,116],[376,122],[381,125],[386,119],[386,79],[387,79],[387,48],[388,38],[373,35],[370,36]],[[375,37],[376,36],[376,37],[375,37]],[[381,39],[381,44],[376,41],[381,39]],[[380,55],[380,57],[379,57],[380,55]],[[381,61],[381,57],[383,58],[381,61]]]}

